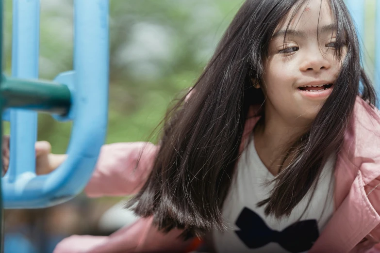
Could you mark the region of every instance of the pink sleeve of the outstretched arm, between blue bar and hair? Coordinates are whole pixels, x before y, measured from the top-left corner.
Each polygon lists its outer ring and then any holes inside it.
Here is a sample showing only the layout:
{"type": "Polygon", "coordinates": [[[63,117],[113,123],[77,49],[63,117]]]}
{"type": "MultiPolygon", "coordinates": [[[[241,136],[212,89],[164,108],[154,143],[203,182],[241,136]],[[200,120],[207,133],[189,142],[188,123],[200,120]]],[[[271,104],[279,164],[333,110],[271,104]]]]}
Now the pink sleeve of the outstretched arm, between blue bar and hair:
{"type": "Polygon", "coordinates": [[[102,146],[95,171],[84,191],[89,197],[131,195],[144,185],[158,147],[150,142],[102,146]]]}

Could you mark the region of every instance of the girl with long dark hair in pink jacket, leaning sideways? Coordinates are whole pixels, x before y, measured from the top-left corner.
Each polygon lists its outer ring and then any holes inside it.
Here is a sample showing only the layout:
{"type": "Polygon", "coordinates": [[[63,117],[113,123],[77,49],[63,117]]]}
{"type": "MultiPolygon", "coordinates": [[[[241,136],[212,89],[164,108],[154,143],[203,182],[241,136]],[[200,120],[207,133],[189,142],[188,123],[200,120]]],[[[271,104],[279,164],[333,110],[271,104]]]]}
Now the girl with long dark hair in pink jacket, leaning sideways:
{"type": "Polygon", "coordinates": [[[141,219],[55,253],[375,251],[375,103],[343,0],[246,0],[159,145],[101,150],[86,193],[135,194],[141,219]]]}

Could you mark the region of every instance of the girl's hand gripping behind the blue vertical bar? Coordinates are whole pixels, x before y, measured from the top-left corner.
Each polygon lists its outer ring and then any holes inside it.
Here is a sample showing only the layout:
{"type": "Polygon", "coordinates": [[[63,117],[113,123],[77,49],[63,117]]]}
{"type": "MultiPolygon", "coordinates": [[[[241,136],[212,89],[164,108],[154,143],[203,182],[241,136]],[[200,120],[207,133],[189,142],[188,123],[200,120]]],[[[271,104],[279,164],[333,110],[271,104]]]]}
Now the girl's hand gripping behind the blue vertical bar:
{"type": "MultiPolygon", "coordinates": [[[[9,136],[4,136],[2,140],[1,147],[2,163],[3,163],[3,175],[7,172],[9,166],[9,136]]],[[[51,154],[51,145],[49,142],[40,141],[35,143],[35,156],[36,164],[35,171],[36,174],[49,174],[59,165],[64,162],[66,155],[55,155],[51,154]]]]}

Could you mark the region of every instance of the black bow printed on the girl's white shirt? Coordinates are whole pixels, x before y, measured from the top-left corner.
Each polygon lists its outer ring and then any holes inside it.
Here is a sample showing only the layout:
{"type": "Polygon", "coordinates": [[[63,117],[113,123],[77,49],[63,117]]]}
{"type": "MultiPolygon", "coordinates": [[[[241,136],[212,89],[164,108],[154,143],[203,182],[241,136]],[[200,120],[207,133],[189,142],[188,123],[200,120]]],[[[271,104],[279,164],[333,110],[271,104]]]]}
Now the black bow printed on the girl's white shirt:
{"type": "Polygon", "coordinates": [[[289,252],[305,252],[311,249],[319,237],[315,220],[299,221],[279,232],[270,229],[260,216],[247,207],[244,207],[240,213],[236,225],[240,230],[235,233],[249,249],[263,247],[269,242],[277,242],[289,252]]]}

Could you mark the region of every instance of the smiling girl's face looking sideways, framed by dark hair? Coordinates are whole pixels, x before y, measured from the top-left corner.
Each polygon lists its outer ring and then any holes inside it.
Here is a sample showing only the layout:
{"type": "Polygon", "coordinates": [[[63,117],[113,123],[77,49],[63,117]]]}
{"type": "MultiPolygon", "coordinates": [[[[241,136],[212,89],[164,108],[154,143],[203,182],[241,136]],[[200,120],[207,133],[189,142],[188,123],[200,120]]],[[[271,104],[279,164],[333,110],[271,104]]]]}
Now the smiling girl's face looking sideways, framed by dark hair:
{"type": "MultiPolygon", "coordinates": [[[[270,41],[261,87],[265,115],[278,115],[294,126],[314,120],[333,89],[341,60],[334,57],[335,22],[327,0],[306,1],[290,23],[284,43],[291,15],[292,11],[270,41]]],[[[341,59],[345,55],[346,49],[341,59]]]]}

